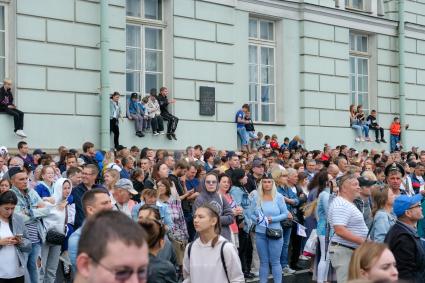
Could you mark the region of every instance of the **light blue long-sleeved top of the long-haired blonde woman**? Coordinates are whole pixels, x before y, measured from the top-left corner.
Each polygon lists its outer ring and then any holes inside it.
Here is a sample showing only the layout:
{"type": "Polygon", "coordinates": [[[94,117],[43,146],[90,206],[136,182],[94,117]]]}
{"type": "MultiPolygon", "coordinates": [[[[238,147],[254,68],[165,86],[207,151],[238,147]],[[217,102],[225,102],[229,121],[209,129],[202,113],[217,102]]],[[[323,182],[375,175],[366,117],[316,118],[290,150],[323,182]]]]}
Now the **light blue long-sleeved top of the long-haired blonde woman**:
{"type": "MultiPolygon", "coordinates": [[[[258,222],[258,217],[261,212],[265,217],[272,218],[272,222],[267,224],[269,228],[282,229],[280,222],[288,217],[288,209],[286,208],[285,200],[281,194],[276,194],[276,197],[273,201],[265,201],[261,204],[258,204],[258,196],[255,195],[252,202],[253,210],[251,219],[254,221],[254,223],[258,222]]],[[[255,226],[255,232],[265,234],[266,226],[257,223],[255,226]]]]}

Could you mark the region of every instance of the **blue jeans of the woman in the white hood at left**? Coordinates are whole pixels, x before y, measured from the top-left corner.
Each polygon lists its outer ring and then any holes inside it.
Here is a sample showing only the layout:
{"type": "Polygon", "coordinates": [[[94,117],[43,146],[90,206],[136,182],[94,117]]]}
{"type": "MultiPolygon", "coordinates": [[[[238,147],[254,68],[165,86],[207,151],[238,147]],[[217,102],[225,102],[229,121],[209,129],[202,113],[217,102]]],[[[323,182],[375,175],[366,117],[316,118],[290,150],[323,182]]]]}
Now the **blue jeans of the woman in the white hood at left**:
{"type": "Polygon", "coordinates": [[[44,243],[41,247],[41,262],[43,263],[42,268],[44,271],[43,283],[55,282],[60,252],[60,245],[44,243]]]}

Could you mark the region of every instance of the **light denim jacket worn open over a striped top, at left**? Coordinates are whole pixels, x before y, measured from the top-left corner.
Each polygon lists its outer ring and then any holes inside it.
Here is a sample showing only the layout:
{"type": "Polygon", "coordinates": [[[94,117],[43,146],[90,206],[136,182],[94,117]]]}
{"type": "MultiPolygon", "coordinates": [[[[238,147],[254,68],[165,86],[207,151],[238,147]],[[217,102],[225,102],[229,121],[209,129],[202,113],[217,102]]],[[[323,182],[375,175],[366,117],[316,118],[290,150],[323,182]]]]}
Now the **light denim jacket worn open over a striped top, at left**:
{"type": "Polygon", "coordinates": [[[36,223],[38,236],[44,242],[46,238],[46,229],[43,226],[42,218],[49,215],[52,206],[45,206],[37,208],[37,205],[43,203],[43,200],[34,189],[29,189],[26,195],[22,194],[19,189],[12,187],[11,191],[14,192],[18,198],[18,204],[15,207],[15,214],[20,215],[25,224],[36,223]],[[27,199],[31,208],[27,205],[27,199]]]}

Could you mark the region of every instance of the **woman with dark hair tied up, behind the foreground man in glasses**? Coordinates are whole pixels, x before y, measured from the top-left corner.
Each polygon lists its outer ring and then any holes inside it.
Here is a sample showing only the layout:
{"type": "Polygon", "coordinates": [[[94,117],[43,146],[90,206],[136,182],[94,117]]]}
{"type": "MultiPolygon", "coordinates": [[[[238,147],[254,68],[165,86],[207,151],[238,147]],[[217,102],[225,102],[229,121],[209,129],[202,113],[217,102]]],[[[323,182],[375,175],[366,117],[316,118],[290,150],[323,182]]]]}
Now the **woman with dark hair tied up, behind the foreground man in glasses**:
{"type": "Polygon", "coordinates": [[[177,275],[170,261],[158,257],[165,246],[167,230],[158,220],[142,219],[140,226],[146,231],[146,241],[149,247],[148,282],[150,283],[177,283],[177,275]]]}

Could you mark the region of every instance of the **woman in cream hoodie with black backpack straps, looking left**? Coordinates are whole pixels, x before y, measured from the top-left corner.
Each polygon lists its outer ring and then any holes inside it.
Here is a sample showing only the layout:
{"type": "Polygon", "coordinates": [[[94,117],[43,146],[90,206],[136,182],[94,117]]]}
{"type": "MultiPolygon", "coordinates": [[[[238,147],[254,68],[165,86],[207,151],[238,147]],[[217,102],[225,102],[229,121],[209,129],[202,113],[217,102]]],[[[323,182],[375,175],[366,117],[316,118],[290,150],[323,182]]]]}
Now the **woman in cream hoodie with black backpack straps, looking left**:
{"type": "Polygon", "coordinates": [[[215,208],[200,206],[193,222],[199,238],[186,248],[183,282],[245,282],[236,248],[220,236],[220,215],[215,208]]]}

